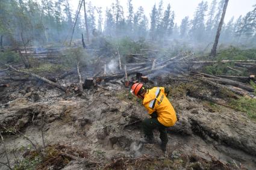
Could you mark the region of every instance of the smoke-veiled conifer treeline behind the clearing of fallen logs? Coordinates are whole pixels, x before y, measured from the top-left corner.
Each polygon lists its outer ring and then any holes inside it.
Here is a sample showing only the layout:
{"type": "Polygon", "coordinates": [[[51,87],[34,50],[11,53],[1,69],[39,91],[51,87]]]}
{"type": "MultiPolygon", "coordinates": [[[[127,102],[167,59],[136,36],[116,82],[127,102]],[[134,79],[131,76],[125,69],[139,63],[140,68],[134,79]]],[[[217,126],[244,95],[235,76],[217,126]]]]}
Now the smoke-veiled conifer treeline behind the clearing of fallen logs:
{"type": "MultiPolygon", "coordinates": [[[[71,8],[70,0],[1,0],[0,35],[1,45],[42,45],[63,43],[71,37],[76,19],[73,38],[81,38],[87,30],[90,37],[105,35],[111,37],[129,36],[164,42],[180,40],[192,43],[212,43],[219,26],[225,0],[213,0],[210,4],[202,1],[195,9],[193,17],[186,16],[178,25],[175,23],[175,11],[172,5],[164,7],[163,1],[152,7],[150,18],[143,7],[135,9],[133,1],[127,1],[127,7],[120,0],[110,4],[106,10],[85,1],[77,10],[71,8]],[[79,10],[81,8],[81,10],[79,10]],[[128,13],[124,12],[128,8],[128,13]],[[80,11],[80,13],[78,13],[80,11]],[[104,12],[105,11],[105,12],[104,12]]],[[[79,4],[82,4],[80,0],[79,4]]],[[[220,36],[222,43],[255,44],[256,42],[256,5],[252,11],[237,20],[234,17],[224,23],[220,36]]]]}

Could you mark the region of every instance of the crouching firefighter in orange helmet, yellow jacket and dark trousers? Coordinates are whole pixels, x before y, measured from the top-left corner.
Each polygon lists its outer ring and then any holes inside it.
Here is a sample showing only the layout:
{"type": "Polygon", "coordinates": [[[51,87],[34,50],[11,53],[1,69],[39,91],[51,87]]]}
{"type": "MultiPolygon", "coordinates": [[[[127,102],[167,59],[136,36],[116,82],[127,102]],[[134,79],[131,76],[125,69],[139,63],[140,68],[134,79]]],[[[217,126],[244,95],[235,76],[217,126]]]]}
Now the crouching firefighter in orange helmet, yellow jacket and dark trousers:
{"type": "Polygon", "coordinates": [[[153,130],[158,129],[161,139],[160,147],[165,152],[168,142],[166,128],[173,126],[177,121],[176,113],[166,97],[169,91],[163,87],[146,89],[142,83],[134,83],[131,93],[143,100],[142,104],[151,116],[142,121],[145,137],[141,138],[140,142],[154,143],[153,130]]]}

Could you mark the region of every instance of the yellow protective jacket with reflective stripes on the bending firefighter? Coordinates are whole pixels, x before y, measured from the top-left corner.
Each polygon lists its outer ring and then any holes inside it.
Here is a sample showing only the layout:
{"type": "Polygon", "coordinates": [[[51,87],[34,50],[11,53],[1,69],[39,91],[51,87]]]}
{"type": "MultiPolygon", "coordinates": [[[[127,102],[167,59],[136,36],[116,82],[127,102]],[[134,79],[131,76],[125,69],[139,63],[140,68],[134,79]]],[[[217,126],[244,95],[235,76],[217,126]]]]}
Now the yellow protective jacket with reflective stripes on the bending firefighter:
{"type": "Polygon", "coordinates": [[[163,87],[154,87],[147,90],[143,99],[143,105],[148,114],[157,113],[157,120],[166,127],[173,126],[176,121],[176,113],[164,94],[163,87]]]}

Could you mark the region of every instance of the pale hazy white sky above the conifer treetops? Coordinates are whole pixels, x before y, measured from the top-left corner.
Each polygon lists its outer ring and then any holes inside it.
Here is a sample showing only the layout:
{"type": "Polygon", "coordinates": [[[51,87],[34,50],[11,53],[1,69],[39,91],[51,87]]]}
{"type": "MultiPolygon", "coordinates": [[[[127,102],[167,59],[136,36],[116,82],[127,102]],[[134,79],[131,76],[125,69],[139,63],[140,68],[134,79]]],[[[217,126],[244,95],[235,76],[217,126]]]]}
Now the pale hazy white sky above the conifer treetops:
{"type": "MultiPolygon", "coordinates": [[[[79,0],[71,0],[72,6],[74,9],[77,8],[79,0]]],[[[88,2],[89,0],[86,0],[88,2]]],[[[193,14],[195,13],[196,7],[202,0],[163,0],[164,8],[167,7],[167,4],[170,3],[171,10],[175,12],[175,22],[180,24],[181,20],[185,16],[189,16],[190,19],[193,18],[193,14]]],[[[208,5],[211,4],[211,0],[205,0],[208,2],[208,5]]],[[[220,0],[218,0],[219,2],[220,0]]],[[[105,15],[105,9],[110,7],[111,3],[115,2],[115,0],[93,0],[92,4],[96,7],[102,7],[103,14],[105,15]]],[[[145,10],[146,16],[149,18],[149,13],[151,13],[153,5],[158,4],[160,0],[133,0],[134,11],[137,10],[139,6],[142,6],[145,10]]],[[[120,4],[125,10],[125,16],[127,11],[127,0],[120,0],[120,4]]],[[[229,0],[228,8],[226,10],[225,22],[231,19],[232,16],[237,19],[240,15],[245,15],[248,11],[253,9],[252,5],[255,5],[255,0],[229,0]]]]}

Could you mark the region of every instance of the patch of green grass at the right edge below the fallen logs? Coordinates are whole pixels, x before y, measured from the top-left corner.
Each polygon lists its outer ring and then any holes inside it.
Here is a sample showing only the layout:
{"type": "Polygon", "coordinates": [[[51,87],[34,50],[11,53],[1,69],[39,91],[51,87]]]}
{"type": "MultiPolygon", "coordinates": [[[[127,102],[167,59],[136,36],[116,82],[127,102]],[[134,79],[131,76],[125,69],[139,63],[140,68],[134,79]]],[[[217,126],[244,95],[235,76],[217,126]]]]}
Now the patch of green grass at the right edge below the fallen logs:
{"type": "Polygon", "coordinates": [[[232,100],[230,105],[239,111],[245,112],[248,117],[256,121],[256,99],[240,97],[238,100],[232,100]]]}

